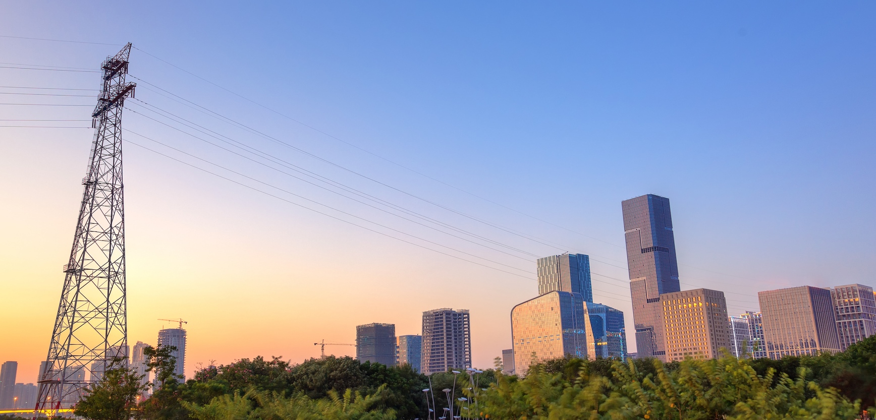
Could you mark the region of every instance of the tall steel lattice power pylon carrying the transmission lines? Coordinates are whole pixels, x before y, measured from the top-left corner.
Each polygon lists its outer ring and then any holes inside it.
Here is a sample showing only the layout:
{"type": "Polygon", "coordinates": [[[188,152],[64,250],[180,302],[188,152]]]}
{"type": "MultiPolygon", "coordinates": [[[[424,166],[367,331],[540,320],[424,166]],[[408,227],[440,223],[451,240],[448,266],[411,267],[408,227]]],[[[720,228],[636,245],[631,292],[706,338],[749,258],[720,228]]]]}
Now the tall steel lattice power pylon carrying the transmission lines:
{"type": "Polygon", "coordinates": [[[114,356],[127,356],[128,318],[124,278],[122,108],[135,85],[124,81],[131,44],[108,57],[101,95],[92,113],[95,140],[64,266],[64,288],[36,409],[48,416],[79,402],[92,379],[114,356]]]}

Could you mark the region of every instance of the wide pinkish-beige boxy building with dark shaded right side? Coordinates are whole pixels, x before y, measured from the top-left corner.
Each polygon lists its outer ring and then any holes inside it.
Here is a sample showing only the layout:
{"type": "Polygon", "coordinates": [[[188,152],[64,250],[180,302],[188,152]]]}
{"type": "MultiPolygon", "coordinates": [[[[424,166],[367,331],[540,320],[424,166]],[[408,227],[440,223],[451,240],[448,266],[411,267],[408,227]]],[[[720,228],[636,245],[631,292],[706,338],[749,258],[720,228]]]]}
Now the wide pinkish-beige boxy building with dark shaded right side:
{"type": "Polygon", "coordinates": [[[758,292],[758,299],[770,359],[840,351],[830,290],[812,286],[767,290],[758,292]]]}

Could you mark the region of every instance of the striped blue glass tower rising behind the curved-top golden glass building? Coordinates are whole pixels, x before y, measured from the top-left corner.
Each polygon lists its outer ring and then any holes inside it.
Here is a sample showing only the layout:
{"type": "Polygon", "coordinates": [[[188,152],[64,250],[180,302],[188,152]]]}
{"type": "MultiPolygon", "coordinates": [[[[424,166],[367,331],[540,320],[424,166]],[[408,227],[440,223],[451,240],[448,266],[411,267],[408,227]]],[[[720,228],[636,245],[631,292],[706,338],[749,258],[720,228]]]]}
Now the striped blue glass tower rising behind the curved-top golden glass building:
{"type": "Polygon", "coordinates": [[[559,290],[577,293],[584,302],[593,302],[590,283],[590,256],[551,255],[538,259],[539,295],[559,290]]]}

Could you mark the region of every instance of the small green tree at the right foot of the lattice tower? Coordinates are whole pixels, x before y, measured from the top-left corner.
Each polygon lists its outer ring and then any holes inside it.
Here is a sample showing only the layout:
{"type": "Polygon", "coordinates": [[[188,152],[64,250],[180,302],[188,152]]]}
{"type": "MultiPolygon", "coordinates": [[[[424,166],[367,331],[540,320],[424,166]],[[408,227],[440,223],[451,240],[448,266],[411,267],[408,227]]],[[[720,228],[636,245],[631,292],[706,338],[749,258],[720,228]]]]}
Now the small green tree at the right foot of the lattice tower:
{"type": "Polygon", "coordinates": [[[114,358],[103,373],[101,381],[91,385],[87,394],[76,404],[74,415],[93,420],[127,420],[137,406],[138,395],[146,386],[143,375],[126,367],[124,358],[114,358]]]}

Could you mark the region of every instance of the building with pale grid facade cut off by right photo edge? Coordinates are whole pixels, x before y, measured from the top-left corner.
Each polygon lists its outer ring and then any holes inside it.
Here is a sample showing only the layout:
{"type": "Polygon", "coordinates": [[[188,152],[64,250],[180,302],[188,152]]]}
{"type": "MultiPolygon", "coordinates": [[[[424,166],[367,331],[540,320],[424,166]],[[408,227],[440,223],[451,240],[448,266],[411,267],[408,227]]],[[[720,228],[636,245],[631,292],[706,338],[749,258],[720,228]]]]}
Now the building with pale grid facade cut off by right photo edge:
{"type": "Polygon", "coordinates": [[[845,350],[852,344],[876,333],[876,294],[864,284],[846,284],[830,290],[837,316],[839,348],[845,350]]]}

